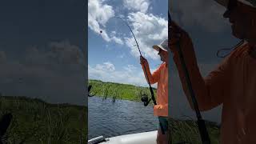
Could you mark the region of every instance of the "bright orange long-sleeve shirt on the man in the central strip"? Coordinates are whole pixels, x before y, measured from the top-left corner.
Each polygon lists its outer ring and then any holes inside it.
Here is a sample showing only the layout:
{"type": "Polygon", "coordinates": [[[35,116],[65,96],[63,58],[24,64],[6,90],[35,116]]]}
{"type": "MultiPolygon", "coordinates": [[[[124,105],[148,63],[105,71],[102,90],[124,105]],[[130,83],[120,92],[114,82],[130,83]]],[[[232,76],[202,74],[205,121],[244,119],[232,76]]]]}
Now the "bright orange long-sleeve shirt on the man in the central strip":
{"type": "MultiPolygon", "coordinates": [[[[154,84],[158,82],[157,88],[157,97],[156,102],[157,105],[154,106],[154,115],[155,116],[168,116],[168,66],[166,62],[162,62],[162,64],[158,67],[157,70],[150,73],[150,68],[148,63],[146,63],[146,72],[149,77],[150,84],[154,84]]],[[[144,66],[142,69],[145,73],[144,66]]]]}

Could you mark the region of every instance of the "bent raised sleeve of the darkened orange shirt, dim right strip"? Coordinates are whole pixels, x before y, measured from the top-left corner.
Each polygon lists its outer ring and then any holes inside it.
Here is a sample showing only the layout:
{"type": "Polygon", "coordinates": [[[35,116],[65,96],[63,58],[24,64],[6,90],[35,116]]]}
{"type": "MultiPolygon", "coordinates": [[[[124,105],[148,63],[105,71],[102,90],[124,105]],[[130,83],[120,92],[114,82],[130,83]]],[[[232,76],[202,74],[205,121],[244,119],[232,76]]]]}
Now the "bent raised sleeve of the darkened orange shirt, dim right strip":
{"type": "MultiPolygon", "coordinates": [[[[186,67],[189,71],[190,81],[194,90],[195,97],[198,101],[199,110],[210,110],[215,106],[222,104],[225,97],[230,94],[230,69],[231,54],[225,58],[217,68],[210,72],[206,78],[202,78],[202,74],[198,69],[198,64],[194,54],[194,48],[191,42],[185,42],[182,50],[186,67]]],[[[187,86],[186,77],[182,70],[182,64],[178,57],[178,51],[174,52],[174,62],[176,63],[179,77],[182,81],[182,88],[190,102],[190,106],[194,109],[190,97],[190,91],[187,86]]]]}

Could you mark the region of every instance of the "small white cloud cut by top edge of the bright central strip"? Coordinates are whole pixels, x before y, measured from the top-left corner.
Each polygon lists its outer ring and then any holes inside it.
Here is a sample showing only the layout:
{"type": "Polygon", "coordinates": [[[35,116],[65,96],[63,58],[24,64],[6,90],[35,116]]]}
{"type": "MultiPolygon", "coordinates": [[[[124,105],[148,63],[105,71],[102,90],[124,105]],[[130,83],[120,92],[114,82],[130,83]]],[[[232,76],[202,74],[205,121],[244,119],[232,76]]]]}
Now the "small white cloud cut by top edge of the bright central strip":
{"type": "Polygon", "coordinates": [[[138,10],[142,13],[146,13],[150,6],[149,0],[123,0],[123,6],[126,6],[128,10],[138,10]]]}

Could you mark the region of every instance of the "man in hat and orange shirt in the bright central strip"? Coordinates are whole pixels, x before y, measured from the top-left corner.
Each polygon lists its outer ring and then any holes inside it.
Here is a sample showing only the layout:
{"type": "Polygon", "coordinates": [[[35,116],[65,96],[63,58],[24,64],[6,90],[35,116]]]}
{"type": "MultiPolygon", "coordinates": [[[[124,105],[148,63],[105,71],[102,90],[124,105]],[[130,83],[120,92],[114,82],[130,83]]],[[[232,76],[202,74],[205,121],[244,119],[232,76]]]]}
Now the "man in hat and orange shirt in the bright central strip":
{"type": "Polygon", "coordinates": [[[162,134],[159,123],[157,143],[168,144],[168,39],[158,46],[153,46],[153,48],[154,50],[158,50],[158,55],[162,61],[162,64],[154,71],[153,74],[150,73],[150,66],[146,58],[141,56],[140,60],[147,82],[150,82],[150,84],[158,82],[156,98],[157,105],[154,106],[154,115],[158,116],[165,134],[162,134]],[[149,79],[147,79],[147,77],[149,79]]]}

